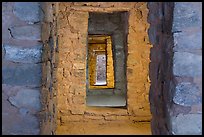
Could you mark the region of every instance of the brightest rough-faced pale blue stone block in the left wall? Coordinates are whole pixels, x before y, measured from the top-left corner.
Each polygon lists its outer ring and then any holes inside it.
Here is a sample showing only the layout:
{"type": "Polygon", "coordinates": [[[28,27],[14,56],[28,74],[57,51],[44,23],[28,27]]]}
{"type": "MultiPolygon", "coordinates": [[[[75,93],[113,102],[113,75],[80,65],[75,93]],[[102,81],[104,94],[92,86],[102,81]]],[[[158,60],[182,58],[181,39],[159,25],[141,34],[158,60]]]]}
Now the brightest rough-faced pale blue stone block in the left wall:
{"type": "Polygon", "coordinates": [[[42,45],[33,48],[20,48],[14,45],[4,45],[5,60],[22,63],[41,62],[42,45]]]}

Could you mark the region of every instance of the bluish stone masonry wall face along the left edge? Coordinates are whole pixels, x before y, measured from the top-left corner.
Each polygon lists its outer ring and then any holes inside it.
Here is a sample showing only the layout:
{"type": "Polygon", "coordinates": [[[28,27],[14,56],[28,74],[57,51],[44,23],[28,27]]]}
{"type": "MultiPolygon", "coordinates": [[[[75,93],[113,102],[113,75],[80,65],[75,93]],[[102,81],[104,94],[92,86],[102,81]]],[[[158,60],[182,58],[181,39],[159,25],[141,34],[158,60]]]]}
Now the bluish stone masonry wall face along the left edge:
{"type": "Polygon", "coordinates": [[[2,134],[39,134],[42,74],[38,2],[2,3],[2,134]]]}

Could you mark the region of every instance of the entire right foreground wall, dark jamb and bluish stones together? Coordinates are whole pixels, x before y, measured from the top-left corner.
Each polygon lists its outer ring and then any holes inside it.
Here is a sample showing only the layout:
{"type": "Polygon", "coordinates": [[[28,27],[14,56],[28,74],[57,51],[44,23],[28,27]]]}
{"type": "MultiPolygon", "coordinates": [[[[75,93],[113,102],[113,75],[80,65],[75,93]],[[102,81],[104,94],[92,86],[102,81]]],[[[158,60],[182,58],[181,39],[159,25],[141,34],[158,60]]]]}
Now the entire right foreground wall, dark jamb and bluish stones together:
{"type": "Polygon", "coordinates": [[[202,3],[148,3],[153,134],[202,134],[202,3]]]}

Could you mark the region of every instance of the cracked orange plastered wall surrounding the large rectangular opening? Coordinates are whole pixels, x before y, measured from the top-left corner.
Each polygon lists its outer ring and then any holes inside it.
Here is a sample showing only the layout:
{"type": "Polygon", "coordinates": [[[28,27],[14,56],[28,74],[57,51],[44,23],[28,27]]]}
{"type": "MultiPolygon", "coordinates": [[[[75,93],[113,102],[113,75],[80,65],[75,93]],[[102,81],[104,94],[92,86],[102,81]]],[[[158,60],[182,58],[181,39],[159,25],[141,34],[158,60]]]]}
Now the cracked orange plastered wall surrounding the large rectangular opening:
{"type": "MultiPolygon", "coordinates": [[[[84,134],[85,127],[112,121],[149,121],[147,5],[137,2],[59,3],[56,134],[84,134]],[[127,109],[87,107],[86,46],[89,12],[128,11],[127,109]],[[77,127],[77,128],[76,128],[77,127]]],[[[87,128],[86,128],[87,129],[87,128]]]]}

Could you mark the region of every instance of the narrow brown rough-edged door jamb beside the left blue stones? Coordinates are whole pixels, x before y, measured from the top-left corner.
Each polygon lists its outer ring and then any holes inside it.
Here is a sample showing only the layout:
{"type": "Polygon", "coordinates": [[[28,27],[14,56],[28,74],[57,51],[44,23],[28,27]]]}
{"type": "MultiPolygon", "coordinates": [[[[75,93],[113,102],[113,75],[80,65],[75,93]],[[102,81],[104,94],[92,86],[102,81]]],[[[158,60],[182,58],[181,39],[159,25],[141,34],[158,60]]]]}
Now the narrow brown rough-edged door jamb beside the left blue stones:
{"type": "Polygon", "coordinates": [[[57,79],[58,63],[57,44],[57,2],[43,2],[41,9],[44,13],[42,20],[42,88],[40,112],[40,134],[53,135],[56,130],[57,118],[57,79]]]}

